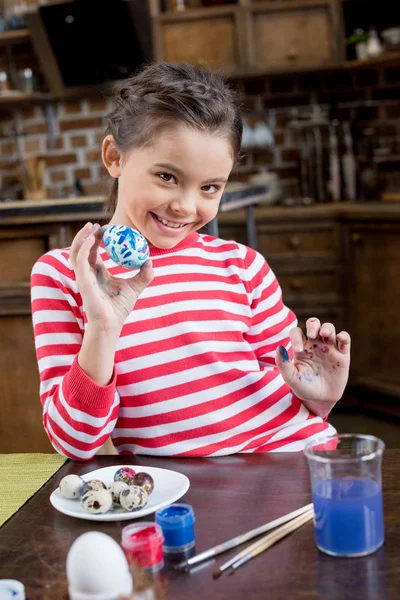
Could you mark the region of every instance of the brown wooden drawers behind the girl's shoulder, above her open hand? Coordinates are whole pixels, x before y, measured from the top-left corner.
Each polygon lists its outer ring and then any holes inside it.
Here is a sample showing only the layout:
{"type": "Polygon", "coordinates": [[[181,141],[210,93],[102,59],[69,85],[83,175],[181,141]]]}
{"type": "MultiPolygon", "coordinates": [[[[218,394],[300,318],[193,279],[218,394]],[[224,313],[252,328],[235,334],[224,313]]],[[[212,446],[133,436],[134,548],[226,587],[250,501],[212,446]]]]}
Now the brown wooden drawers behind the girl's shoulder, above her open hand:
{"type": "MultiPolygon", "coordinates": [[[[310,317],[343,328],[340,227],[329,209],[321,216],[303,209],[257,209],[257,250],[273,269],[283,300],[304,328],[310,317]]],[[[220,219],[220,235],[246,242],[234,223],[220,219]]]]}

